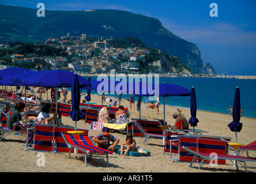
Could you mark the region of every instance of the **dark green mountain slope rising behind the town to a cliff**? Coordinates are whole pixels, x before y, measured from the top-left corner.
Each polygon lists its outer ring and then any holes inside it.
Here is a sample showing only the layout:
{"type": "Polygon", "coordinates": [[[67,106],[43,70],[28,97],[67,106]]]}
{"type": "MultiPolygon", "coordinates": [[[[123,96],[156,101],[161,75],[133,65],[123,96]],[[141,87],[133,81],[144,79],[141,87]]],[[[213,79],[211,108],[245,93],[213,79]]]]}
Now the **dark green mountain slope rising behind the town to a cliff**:
{"type": "Polygon", "coordinates": [[[156,18],[121,10],[50,11],[0,5],[0,41],[37,41],[70,36],[136,37],[147,47],[161,49],[180,60],[195,74],[214,74],[204,63],[197,45],[171,33],[156,18]]]}

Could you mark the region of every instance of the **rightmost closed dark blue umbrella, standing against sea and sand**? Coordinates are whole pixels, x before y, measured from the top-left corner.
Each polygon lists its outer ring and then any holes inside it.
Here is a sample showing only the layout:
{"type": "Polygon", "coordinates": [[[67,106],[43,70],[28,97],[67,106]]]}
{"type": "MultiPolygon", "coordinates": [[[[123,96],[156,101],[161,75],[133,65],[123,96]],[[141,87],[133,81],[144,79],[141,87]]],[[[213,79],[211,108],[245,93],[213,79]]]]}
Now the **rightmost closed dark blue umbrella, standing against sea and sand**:
{"type": "Polygon", "coordinates": [[[241,110],[240,90],[239,90],[239,87],[236,87],[234,105],[233,105],[233,121],[230,124],[228,124],[228,127],[232,132],[240,132],[243,127],[243,124],[239,122],[240,110],[241,110]]]}

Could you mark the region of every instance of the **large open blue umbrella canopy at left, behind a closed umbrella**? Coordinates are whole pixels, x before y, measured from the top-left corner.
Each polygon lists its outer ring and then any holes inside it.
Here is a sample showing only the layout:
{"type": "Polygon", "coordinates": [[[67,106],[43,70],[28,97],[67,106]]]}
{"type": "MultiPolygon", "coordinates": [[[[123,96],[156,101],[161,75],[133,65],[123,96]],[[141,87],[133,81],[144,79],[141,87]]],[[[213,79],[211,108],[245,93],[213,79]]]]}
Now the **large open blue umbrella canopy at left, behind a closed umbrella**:
{"type": "MultiPolygon", "coordinates": [[[[10,76],[11,80],[16,82],[23,81],[24,86],[47,86],[47,87],[71,87],[73,82],[73,72],[63,70],[46,70],[36,72],[26,72],[22,76],[10,76]]],[[[85,78],[78,75],[79,87],[90,87],[85,78]]]]}

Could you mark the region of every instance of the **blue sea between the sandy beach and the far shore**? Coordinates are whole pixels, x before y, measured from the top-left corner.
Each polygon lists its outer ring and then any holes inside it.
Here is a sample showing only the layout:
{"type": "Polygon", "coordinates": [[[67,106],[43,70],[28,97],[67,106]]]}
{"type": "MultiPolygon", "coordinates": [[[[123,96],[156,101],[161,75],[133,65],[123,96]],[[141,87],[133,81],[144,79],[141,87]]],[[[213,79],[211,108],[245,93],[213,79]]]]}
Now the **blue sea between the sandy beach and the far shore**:
{"type": "MultiPolygon", "coordinates": [[[[88,76],[84,76],[88,79],[88,76]]],[[[97,76],[92,76],[92,80],[97,76]]],[[[110,78],[109,78],[110,79],[110,78]]],[[[154,81],[154,80],[153,80],[154,81]]],[[[236,86],[240,89],[240,104],[243,116],[256,118],[256,80],[255,79],[227,79],[227,78],[165,78],[160,77],[159,83],[171,83],[191,90],[194,86],[197,96],[197,109],[209,112],[229,114],[229,106],[233,107],[236,86]]],[[[86,90],[82,90],[86,93],[86,90]]],[[[92,90],[92,94],[97,94],[92,90]]],[[[118,97],[118,95],[106,94],[118,97]]],[[[128,99],[129,94],[124,94],[123,99],[128,99]]],[[[164,98],[160,98],[163,105],[164,98]]],[[[138,99],[138,97],[135,97],[138,99]]],[[[92,99],[93,102],[93,99],[92,99]]],[[[180,108],[190,108],[190,97],[165,97],[165,105],[180,108]]]]}

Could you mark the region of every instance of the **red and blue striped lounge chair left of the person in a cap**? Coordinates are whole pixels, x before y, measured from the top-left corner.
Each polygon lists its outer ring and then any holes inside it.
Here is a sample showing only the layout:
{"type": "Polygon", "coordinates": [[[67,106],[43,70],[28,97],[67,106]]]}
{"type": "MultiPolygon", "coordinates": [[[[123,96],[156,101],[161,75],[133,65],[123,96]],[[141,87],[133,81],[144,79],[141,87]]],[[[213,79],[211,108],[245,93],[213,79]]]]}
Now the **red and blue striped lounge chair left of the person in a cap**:
{"type": "Polygon", "coordinates": [[[106,155],[107,166],[108,166],[108,155],[115,154],[115,152],[108,151],[100,147],[96,147],[96,145],[93,144],[91,137],[89,137],[88,135],[71,135],[70,133],[62,133],[62,137],[65,140],[67,147],[70,148],[69,157],[70,157],[70,152],[73,148],[77,148],[77,150],[84,152],[85,167],[87,162],[86,161],[87,154],[106,155]]]}

